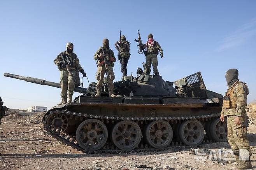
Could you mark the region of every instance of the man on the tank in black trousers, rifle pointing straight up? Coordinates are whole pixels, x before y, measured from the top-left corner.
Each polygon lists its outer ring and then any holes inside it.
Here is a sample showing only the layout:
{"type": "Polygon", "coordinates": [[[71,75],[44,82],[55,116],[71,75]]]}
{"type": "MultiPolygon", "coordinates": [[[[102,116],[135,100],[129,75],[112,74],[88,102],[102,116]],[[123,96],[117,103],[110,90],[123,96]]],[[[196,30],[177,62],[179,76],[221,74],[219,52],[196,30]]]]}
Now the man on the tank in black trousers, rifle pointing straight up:
{"type": "Polygon", "coordinates": [[[121,71],[124,77],[127,76],[127,64],[130,58],[130,43],[126,41],[125,36],[122,35],[121,42],[118,41],[115,43],[115,45],[119,53],[118,59],[121,60],[121,71]]]}

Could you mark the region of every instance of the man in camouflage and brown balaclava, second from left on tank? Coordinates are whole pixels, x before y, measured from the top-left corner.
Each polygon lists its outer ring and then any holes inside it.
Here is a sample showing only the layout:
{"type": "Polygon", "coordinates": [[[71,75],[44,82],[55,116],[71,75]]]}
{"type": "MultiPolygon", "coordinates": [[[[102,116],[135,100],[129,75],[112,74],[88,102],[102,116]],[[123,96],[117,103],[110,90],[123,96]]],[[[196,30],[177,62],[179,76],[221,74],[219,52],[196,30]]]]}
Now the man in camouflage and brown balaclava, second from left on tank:
{"type": "Polygon", "coordinates": [[[100,97],[105,73],[107,73],[108,75],[107,85],[109,90],[109,97],[116,97],[116,95],[113,94],[113,80],[115,79],[115,75],[112,68],[114,66],[114,62],[116,62],[116,57],[114,56],[114,52],[109,48],[109,40],[107,38],[103,39],[103,47],[100,47],[100,49],[96,51],[96,53],[94,54],[94,59],[97,61],[96,80],[98,81],[95,87],[95,97],[100,97]],[[107,63],[104,62],[104,58],[107,63]]]}

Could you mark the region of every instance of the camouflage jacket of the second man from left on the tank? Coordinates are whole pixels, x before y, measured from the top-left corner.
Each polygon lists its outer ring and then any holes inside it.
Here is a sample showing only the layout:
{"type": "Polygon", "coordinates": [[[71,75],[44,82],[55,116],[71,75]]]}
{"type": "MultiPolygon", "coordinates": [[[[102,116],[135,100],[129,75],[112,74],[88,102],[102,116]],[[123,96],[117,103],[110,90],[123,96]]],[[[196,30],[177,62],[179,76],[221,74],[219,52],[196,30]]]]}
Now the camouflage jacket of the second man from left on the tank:
{"type": "MultiPolygon", "coordinates": [[[[94,54],[93,58],[94,60],[96,60],[96,64],[99,66],[99,63],[103,61],[103,59],[100,58],[100,55],[102,55],[102,50],[103,50],[103,47],[100,47],[94,54]]],[[[111,50],[111,49],[104,49],[104,53],[105,53],[105,56],[107,58],[110,58],[110,57],[114,57],[114,61],[108,61],[108,66],[111,66],[113,67],[114,66],[114,62],[116,62],[116,57],[114,55],[114,52],[111,50]]],[[[104,64],[102,64],[102,66],[104,66],[104,64]]]]}

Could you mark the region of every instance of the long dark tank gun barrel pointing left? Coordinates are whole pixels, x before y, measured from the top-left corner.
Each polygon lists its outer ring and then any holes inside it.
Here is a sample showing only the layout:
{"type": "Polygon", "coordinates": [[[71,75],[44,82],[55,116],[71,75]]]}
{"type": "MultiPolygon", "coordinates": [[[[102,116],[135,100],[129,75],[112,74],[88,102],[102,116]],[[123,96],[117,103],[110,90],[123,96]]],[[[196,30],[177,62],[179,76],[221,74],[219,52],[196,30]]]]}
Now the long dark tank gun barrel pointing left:
{"type": "MultiPolygon", "coordinates": [[[[16,78],[16,79],[19,79],[19,80],[24,80],[24,81],[30,82],[30,83],[36,83],[36,84],[40,84],[40,85],[47,85],[47,86],[51,86],[51,87],[61,88],[60,83],[48,82],[46,80],[39,79],[39,78],[13,75],[11,73],[4,73],[4,76],[5,77],[16,78]]],[[[87,90],[87,88],[75,87],[74,92],[78,92],[78,93],[81,92],[83,94],[86,94],[86,93],[89,92],[89,90],[87,90]]]]}

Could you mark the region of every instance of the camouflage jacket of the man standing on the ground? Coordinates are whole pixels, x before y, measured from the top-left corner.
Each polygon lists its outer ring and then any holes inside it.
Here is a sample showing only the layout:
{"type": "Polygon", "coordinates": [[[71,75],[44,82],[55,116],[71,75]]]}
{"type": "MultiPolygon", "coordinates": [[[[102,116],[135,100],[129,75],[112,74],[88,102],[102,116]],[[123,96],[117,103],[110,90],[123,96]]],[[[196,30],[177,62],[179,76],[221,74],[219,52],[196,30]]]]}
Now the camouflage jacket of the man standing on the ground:
{"type": "MultiPolygon", "coordinates": [[[[247,106],[247,95],[249,89],[246,83],[235,82],[233,86],[228,88],[227,93],[230,93],[231,88],[234,88],[233,94],[231,94],[232,107],[230,109],[222,107],[221,114],[224,116],[245,116],[245,107],[247,106]],[[233,87],[235,85],[235,87],[233,87]]],[[[224,106],[224,105],[223,105],[224,106]]]]}

